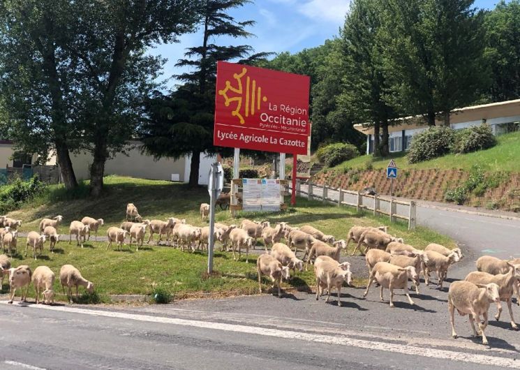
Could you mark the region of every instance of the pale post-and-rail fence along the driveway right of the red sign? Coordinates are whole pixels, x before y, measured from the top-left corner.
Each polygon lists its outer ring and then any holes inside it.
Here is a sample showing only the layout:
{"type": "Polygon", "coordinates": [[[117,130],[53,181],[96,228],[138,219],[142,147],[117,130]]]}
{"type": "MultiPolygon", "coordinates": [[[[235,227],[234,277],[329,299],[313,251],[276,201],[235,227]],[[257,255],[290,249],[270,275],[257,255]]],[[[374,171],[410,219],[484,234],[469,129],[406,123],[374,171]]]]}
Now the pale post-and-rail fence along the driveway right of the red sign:
{"type": "Polygon", "coordinates": [[[395,222],[396,219],[401,219],[408,221],[408,230],[415,229],[417,225],[417,205],[413,200],[410,202],[403,202],[402,200],[396,200],[395,198],[382,198],[379,195],[365,195],[360,193],[359,191],[346,190],[342,188],[332,188],[330,186],[318,185],[309,182],[306,184],[308,186],[308,191],[302,191],[302,182],[297,180],[296,182],[296,195],[302,196],[302,194],[307,195],[309,200],[313,199],[321,199],[323,202],[331,202],[333,204],[337,204],[338,206],[347,205],[350,207],[356,207],[356,210],[359,212],[363,209],[368,211],[372,211],[373,215],[376,216],[378,214],[383,214],[385,216],[389,216],[390,222],[395,222]],[[314,188],[322,189],[322,195],[315,194],[314,188]],[[329,197],[329,191],[337,191],[339,196],[337,199],[329,197]],[[346,202],[345,195],[355,195],[357,201],[355,203],[346,202]],[[389,212],[381,209],[381,202],[389,203],[389,212]],[[402,214],[397,213],[397,205],[403,205],[408,207],[408,216],[404,216],[402,214]]]}

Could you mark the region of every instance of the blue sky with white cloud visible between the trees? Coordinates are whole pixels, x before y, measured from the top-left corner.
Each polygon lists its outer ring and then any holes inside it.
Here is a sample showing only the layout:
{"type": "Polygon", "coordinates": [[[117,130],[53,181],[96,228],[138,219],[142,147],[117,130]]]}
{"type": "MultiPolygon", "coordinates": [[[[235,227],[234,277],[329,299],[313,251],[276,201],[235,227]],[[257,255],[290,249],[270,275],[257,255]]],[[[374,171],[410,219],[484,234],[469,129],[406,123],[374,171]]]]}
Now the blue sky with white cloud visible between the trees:
{"type": "MultiPolygon", "coordinates": [[[[497,2],[476,0],[474,6],[492,9],[497,2]]],[[[349,4],[349,0],[256,0],[230,12],[237,21],[254,20],[255,26],[249,27],[248,31],[255,37],[219,38],[216,41],[222,45],[251,45],[255,52],[299,52],[337,36],[349,4]]],[[[201,34],[200,31],[186,34],[179,38],[179,43],[158,45],[150,51],[150,54],[160,54],[168,59],[162,79],[185,71],[175,64],[183,58],[186,47],[200,45],[201,34]]],[[[170,79],[167,87],[172,88],[176,83],[177,80],[170,79]]]]}

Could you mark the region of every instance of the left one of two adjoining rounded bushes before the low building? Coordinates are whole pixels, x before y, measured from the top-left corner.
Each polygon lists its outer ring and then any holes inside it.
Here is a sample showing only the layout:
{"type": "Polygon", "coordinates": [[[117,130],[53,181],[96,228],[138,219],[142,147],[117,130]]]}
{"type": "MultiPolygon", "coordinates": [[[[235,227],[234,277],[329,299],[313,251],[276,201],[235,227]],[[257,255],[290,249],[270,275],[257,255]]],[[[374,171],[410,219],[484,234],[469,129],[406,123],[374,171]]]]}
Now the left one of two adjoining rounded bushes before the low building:
{"type": "Polygon", "coordinates": [[[417,163],[450,153],[454,143],[454,130],[450,127],[430,127],[414,135],[408,162],[417,163]]]}

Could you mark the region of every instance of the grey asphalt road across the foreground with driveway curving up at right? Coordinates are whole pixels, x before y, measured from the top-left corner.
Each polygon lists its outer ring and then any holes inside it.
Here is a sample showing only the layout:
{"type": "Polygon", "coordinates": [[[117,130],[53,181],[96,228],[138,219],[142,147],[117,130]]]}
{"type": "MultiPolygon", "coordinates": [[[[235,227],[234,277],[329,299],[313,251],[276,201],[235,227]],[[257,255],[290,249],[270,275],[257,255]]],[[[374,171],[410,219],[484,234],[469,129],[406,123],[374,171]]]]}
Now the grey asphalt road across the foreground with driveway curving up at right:
{"type": "MultiPolygon", "coordinates": [[[[462,244],[450,281],[481,254],[519,256],[519,221],[423,207],[417,219],[462,244]]],[[[489,347],[470,336],[467,316],[456,316],[451,338],[447,286],[422,285],[414,306],[397,291],[395,309],[375,288],[363,299],[364,287],[343,288],[342,307],[335,294],[325,304],[307,293],[138,307],[0,302],[0,369],[520,368],[505,307],[486,330],[489,347]]]]}

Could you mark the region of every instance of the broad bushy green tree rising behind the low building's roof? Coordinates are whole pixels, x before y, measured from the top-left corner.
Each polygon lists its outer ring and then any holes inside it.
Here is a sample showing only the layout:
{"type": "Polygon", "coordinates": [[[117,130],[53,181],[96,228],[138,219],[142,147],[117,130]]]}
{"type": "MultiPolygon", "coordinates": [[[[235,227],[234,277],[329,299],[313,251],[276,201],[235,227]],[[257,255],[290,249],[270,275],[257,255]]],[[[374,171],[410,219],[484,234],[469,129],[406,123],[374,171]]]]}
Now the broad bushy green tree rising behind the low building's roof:
{"type": "Polygon", "coordinates": [[[390,105],[429,125],[485,90],[483,13],[473,0],[386,0],[382,28],[390,105]]]}

